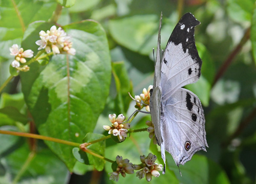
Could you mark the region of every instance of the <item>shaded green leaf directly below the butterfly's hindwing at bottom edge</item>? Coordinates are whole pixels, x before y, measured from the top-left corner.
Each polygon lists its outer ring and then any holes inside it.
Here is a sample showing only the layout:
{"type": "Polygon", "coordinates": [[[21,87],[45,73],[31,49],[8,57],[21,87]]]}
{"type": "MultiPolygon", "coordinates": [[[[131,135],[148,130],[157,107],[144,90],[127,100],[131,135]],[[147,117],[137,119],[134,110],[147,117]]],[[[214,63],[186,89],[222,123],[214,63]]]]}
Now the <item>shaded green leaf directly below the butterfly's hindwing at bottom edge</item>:
{"type": "Polygon", "coordinates": [[[230,183],[226,173],[206,156],[195,154],[179,169],[170,154],[166,155],[167,167],[173,170],[181,183],[230,183]]]}

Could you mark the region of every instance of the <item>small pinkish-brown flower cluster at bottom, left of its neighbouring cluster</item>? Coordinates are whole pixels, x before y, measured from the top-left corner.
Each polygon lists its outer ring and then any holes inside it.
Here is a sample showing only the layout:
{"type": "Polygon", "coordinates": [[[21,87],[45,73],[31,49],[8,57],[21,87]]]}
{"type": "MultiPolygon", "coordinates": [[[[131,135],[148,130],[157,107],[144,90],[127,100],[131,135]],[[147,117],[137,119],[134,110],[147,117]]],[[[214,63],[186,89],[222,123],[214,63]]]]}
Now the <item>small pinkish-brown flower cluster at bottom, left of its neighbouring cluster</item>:
{"type": "Polygon", "coordinates": [[[123,177],[127,174],[133,174],[134,173],[134,165],[130,163],[129,159],[123,159],[122,156],[117,155],[116,157],[116,164],[117,168],[116,171],[109,173],[110,174],[110,180],[118,181],[119,180],[119,174],[121,174],[123,177]]]}

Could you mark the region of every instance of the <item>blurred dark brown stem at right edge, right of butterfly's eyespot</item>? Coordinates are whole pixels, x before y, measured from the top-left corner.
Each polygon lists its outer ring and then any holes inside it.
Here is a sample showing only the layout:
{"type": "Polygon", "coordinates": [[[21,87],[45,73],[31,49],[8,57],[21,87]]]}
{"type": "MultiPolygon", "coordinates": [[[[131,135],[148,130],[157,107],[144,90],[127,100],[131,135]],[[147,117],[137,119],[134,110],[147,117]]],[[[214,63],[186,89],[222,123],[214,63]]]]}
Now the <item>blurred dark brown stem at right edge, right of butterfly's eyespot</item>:
{"type": "Polygon", "coordinates": [[[223,147],[226,147],[227,145],[229,145],[229,143],[238,135],[240,135],[242,133],[242,131],[245,129],[245,127],[247,127],[247,125],[249,125],[250,122],[252,122],[253,118],[256,116],[256,107],[254,107],[254,109],[251,111],[251,113],[249,113],[249,115],[243,120],[241,121],[240,125],[238,126],[237,130],[234,131],[227,139],[226,142],[223,143],[223,147]]]}

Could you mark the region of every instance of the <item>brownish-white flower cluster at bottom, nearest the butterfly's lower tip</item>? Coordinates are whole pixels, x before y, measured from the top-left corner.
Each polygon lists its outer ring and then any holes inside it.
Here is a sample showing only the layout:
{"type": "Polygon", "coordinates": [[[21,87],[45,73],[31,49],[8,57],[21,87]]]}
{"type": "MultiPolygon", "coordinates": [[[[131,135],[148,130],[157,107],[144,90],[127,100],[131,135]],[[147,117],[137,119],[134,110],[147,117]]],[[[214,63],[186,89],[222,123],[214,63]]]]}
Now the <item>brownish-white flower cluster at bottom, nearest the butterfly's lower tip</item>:
{"type": "Polygon", "coordinates": [[[156,164],[156,159],[157,156],[153,155],[152,153],[149,153],[147,156],[140,156],[140,161],[142,164],[134,166],[136,170],[140,169],[139,171],[136,172],[136,176],[138,176],[139,179],[142,179],[143,177],[146,176],[147,181],[151,181],[152,176],[159,177],[159,171],[163,170],[163,166],[161,164],[156,164]]]}

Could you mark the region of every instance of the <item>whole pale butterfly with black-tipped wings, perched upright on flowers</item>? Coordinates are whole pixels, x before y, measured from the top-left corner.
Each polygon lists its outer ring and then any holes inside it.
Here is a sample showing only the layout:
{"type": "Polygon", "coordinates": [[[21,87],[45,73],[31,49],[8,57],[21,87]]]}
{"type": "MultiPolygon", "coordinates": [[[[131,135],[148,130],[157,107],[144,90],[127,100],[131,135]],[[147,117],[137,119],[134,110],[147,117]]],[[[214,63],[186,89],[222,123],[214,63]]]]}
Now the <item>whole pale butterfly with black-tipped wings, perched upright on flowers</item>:
{"type": "Polygon", "coordinates": [[[151,91],[150,111],[155,136],[176,165],[184,165],[199,150],[206,151],[204,111],[199,98],[183,86],[198,81],[202,60],[195,43],[195,27],[200,24],[195,16],[186,13],[179,20],[161,52],[161,22],[158,32],[154,85],[151,91]],[[161,57],[162,53],[162,57],[161,57]]]}

